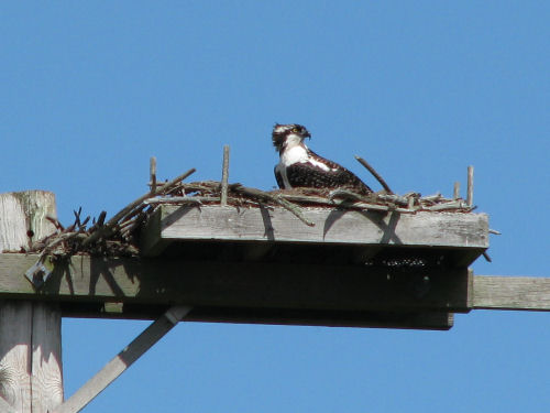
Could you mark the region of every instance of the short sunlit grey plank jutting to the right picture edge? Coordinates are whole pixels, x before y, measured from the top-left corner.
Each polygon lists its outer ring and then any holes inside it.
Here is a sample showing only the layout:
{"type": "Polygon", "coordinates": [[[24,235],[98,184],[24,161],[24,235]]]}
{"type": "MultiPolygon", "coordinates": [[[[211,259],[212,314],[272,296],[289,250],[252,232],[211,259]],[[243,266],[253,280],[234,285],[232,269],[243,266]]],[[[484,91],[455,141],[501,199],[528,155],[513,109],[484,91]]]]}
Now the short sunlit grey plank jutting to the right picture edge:
{"type": "Polygon", "coordinates": [[[475,275],[473,307],[550,311],[550,279],[475,275]]]}

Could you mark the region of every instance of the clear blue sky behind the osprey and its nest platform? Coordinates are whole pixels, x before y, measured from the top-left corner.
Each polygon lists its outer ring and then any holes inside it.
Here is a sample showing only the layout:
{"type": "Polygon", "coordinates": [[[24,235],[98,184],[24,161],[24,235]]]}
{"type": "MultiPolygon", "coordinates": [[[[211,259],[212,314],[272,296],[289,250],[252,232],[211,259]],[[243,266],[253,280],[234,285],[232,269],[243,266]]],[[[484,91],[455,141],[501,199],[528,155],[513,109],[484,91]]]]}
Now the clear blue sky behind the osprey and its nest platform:
{"type": "MultiPolygon", "coordinates": [[[[0,6],[0,192],[116,214],[197,167],[270,189],[275,122],[375,188],[452,194],[475,166],[493,263],[550,276],[550,2],[95,1],[0,6]],[[47,6],[45,6],[47,4],[47,6]]],[[[69,396],[147,322],[64,319],[69,396]]],[[[180,324],[85,410],[543,412],[550,314],[446,333],[180,324]]]]}

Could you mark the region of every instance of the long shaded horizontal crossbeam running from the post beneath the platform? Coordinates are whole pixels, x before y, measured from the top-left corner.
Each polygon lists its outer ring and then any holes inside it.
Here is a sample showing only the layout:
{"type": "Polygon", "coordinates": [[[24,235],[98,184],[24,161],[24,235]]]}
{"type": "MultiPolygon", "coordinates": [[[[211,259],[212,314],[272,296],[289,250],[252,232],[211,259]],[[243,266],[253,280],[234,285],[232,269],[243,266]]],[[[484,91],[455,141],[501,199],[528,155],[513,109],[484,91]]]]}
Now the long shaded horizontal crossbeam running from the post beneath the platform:
{"type": "Polygon", "coordinates": [[[35,293],[35,257],[0,254],[0,297],[311,311],[469,312],[466,269],[212,262],[75,256],[35,293]]]}

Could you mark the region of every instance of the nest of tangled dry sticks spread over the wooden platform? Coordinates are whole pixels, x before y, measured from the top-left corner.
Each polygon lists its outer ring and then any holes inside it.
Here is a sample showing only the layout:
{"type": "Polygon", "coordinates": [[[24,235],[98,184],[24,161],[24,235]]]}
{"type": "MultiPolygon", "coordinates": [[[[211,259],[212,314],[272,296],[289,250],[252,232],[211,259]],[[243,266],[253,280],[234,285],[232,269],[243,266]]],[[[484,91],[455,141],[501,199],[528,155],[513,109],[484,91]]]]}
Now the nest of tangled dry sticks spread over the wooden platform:
{"type": "Polygon", "coordinates": [[[340,208],[344,210],[376,210],[415,214],[417,211],[470,213],[473,207],[462,198],[450,199],[441,194],[420,196],[418,193],[405,195],[378,192],[359,195],[345,188],[264,192],[241,184],[204,181],[183,183],[195,170],[161,184],[106,221],[103,211],[98,218],[81,218],[81,209],[75,211],[75,222],[64,227],[56,219],[48,218],[56,227],[52,236],[35,242],[25,252],[37,252],[41,258],[53,256],[64,258],[74,254],[105,257],[138,257],[139,229],[147,217],[163,204],[173,205],[230,205],[234,207],[258,208],[283,207],[298,217],[305,225],[312,226],[302,214],[304,208],[340,208]],[[90,225],[88,225],[90,224],[90,225]]]}

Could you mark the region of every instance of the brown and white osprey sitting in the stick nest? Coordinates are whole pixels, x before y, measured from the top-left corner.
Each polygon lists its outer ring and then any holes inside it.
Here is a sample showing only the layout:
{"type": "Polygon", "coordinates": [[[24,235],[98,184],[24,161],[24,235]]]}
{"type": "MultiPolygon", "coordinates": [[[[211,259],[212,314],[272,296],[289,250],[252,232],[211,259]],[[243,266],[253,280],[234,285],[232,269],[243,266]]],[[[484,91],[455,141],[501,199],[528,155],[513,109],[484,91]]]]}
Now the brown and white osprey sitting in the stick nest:
{"type": "Polygon", "coordinates": [[[279,153],[275,178],[282,189],[293,187],[346,188],[360,194],[372,189],[359,177],[336,162],[311,151],[304,140],[311,134],[301,124],[278,124],[273,128],[273,145],[279,153]]]}

